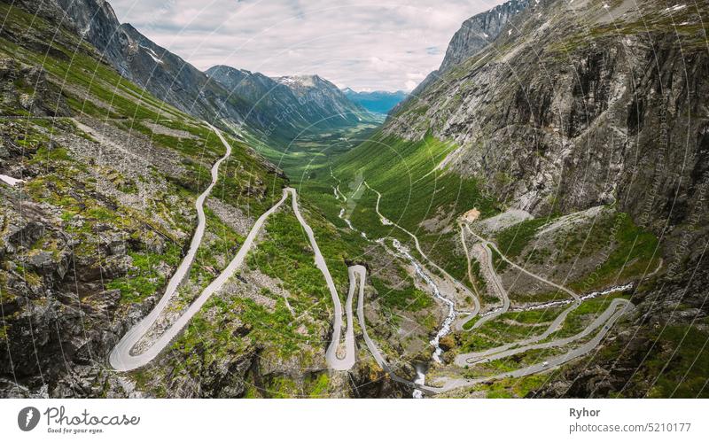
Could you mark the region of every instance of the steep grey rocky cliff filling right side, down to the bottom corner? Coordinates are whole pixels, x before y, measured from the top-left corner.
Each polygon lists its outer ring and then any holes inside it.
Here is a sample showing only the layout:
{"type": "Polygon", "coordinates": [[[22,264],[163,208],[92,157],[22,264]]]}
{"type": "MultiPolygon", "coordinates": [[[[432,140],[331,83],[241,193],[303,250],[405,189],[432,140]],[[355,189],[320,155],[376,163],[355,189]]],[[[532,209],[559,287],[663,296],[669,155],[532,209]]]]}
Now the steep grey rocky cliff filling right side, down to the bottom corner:
{"type": "Polygon", "coordinates": [[[503,207],[541,216],[607,205],[659,238],[664,265],[638,289],[642,319],[620,334],[619,353],[562,370],[540,394],[646,394],[654,384],[637,373],[659,375],[638,364],[682,345],[645,353],[667,336],[651,325],[701,332],[691,324],[706,316],[709,282],[707,12],[706,2],[529,2],[482,49],[454,38],[445,71],[383,129],[453,143],[436,168],[476,179],[503,207]]]}

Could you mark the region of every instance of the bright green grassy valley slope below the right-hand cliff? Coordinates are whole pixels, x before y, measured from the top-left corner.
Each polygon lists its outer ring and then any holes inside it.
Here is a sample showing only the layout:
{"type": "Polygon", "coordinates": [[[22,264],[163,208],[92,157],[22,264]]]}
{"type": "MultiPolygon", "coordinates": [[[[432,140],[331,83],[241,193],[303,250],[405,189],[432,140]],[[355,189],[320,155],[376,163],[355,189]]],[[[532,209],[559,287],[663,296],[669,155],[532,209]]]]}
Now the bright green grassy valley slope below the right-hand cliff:
{"type": "MultiPolygon", "coordinates": [[[[496,211],[495,203],[480,193],[475,180],[434,170],[454,149],[454,145],[432,136],[412,143],[377,133],[332,159],[332,170],[339,180],[339,189],[346,195],[352,194],[362,180],[381,192],[381,213],[415,233],[432,260],[465,281],[464,257],[452,253],[457,251],[459,241],[456,229],[443,233],[440,232],[443,225],[429,231],[420,224],[434,218],[447,218],[448,224],[453,224],[458,215],[472,207],[478,207],[483,216],[496,211]]],[[[336,225],[345,227],[338,219],[340,208],[345,206],[354,227],[365,231],[368,237],[391,236],[409,243],[410,238],[400,230],[381,224],[375,210],[377,195],[373,191],[358,192],[347,205],[341,205],[332,196],[332,186],[338,181],[331,178],[328,168],[313,171],[309,178],[302,184],[304,195],[336,225]]]]}

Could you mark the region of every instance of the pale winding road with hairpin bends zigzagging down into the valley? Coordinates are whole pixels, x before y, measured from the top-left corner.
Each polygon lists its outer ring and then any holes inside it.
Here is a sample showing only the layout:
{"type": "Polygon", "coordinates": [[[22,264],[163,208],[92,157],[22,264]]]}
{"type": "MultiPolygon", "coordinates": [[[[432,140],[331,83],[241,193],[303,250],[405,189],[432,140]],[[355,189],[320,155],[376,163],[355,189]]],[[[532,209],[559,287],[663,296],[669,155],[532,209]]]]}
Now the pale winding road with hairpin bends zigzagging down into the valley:
{"type": "MultiPolygon", "coordinates": [[[[549,325],[549,328],[541,335],[528,338],[526,340],[510,343],[508,345],[501,345],[499,347],[495,347],[494,349],[489,349],[485,352],[466,353],[458,355],[458,357],[456,357],[457,365],[468,366],[469,364],[479,363],[481,361],[495,361],[497,359],[501,359],[507,356],[526,352],[527,350],[568,345],[584,337],[587,337],[593,330],[596,330],[598,328],[601,328],[601,330],[599,330],[596,336],[591,338],[587,343],[584,343],[565,354],[559,355],[556,358],[552,358],[549,361],[544,361],[539,364],[534,364],[525,368],[519,368],[517,370],[501,373],[495,376],[487,376],[475,379],[442,379],[442,381],[444,382],[444,385],[442,387],[430,387],[423,384],[416,384],[412,381],[401,378],[401,376],[397,376],[393,372],[393,369],[389,367],[388,363],[386,362],[386,359],[379,351],[378,346],[370,338],[367,332],[367,326],[364,317],[364,284],[366,281],[366,268],[359,265],[351,266],[347,269],[349,276],[349,290],[347,292],[346,301],[347,329],[345,331],[344,338],[344,355],[342,357],[339,357],[338,350],[342,341],[342,305],[339,299],[339,294],[335,287],[335,283],[332,280],[330,269],[327,267],[327,263],[323,257],[322,252],[320,251],[320,247],[317,244],[315,233],[300,213],[300,205],[298,202],[298,195],[296,190],[292,188],[285,188],[283,190],[283,196],[281,197],[281,199],[275,205],[269,208],[268,211],[261,214],[258,220],[254,222],[253,227],[249,231],[249,234],[246,237],[244,244],[242,244],[242,246],[237,252],[237,255],[230,261],[229,265],[222,271],[222,273],[218,275],[214,279],[214,281],[210,283],[206,287],[206,289],[199,294],[198,299],[196,299],[185,310],[185,312],[179,318],[177,318],[175,322],[170,325],[170,327],[168,327],[167,330],[164,330],[160,337],[158,337],[152,342],[152,345],[150,345],[143,353],[136,354],[133,352],[133,349],[135,348],[138,341],[142,337],[144,337],[148,330],[152,328],[152,325],[159,318],[160,313],[166,308],[166,306],[168,306],[169,300],[175,294],[177,288],[183,282],[184,278],[189,275],[189,270],[197,254],[199,244],[201,244],[202,238],[204,237],[206,229],[204,202],[211,190],[213,189],[214,184],[218,181],[218,171],[220,164],[222,163],[222,161],[227,159],[231,153],[230,144],[226,142],[221,132],[219,132],[211,125],[210,128],[212,128],[217,134],[217,136],[219,136],[219,138],[221,139],[222,143],[226,147],[226,153],[222,157],[222,159],[219,159],[214,163],[214,166],[211,169],[212,182],[206,188],[206,190],[201,195],[199,195],[199,198],[197,198],[195,202],[195,207],[198,212],[198,226],[197,229],[195,229],[195,233],[192,237],[190,249],[183,258],[183,261],[180,263],[180,266],[175,271],[175,274],[170,278],[168,287],[166,288],[163,296],[160,298],[158,304],[152,309],[150,314],[145,316],[140,322],[137,322],[136,325],[131,328],[126,333],[126,335],[121,338],[121,341],[113,348],[113,351],[109,356],[109,361],[113,368],[118,371],[128,371],[144,366],[145,364],[154,360],[170,344],[170,342],[172,342],[172,340],[183,330],[187,323],[190,322],[191,318],[199,312],[199,309],[202,306],[204,306],[206,300],[209,299],[214,293],[222,290],[223,285],[227,283],[227,281],[229,281],[230,277],[234,275],[236,270],[243,264],[245,256],[253,247],[254,240],[257,237],[259,231],[261,230],[261,227],[263,226],[264,222],[269,218],[272,213],[276,212],[278,208],[283,205],[285,199],[288,198],[289,195],[292,198],[293,213],[300,222],[300,226],[302,227],[302,229],[306,232],[306,235],[308,236],[308,241],[313,249],[316,267],[323,274],[325,283],[327,284],[328,289],[331,293],[331,300],[334,306],[332,319],[332,335],[330,345],[328,345],[328,348],[325,352],[325,361],[328,363],[330,368],[335,370],[348,370],[352,368],[355,363],[356,356],[354,348],[354,315],[352,312],[352,306],[354,299],[354,291],[356,291],[357,288],[359,289],[359,296],[357,301],[357,316],[360,323],[360,327],[362,329],[362,336],[364,337],[365,344],[370,350],[370,353],[374,357],[378,366],[384,369],[394,381],[399,382],[401,384],[406,384],[411,388],[415,388],[423,392],[428,392],[430,394],[436,392],[447,392],[448,390],[469,386],[472,384],[479,384],[480,382],[500,379],[503,377],[527,376],[530,374],[548,370],[549,368],[557,367],[558,365],[561,365],[566,361],[571,361],[572,359],[577,358],[593,350],[596,345],[600,343],[600,341],[603,339],[608,330],[611,329],[613,323],[616,322],[622,314],[625,314],[627,310],[633,308],[633,305],[625,299],[613,299],[611,305],[606,308],[604,313],[596,317],[596,320],[589,324],[588,327],[582,330],[580,333],[574,335],[573,337],[565,337],[537,344],[538,341],[544,339],[545,337],[548,337],[551,333],[558,329],[559,325],[565,321],[566,315],[569,314],[574,308],[576,308],[580,304],[580,298],[572,291],[569,291],[568,289],[565,289],[564,287],[557,285],[556,283],[548,282],[541,278],[541,276],[534,275],[533,273],[526,271],[524,268],[520,268],[510,260],[507,260],[506,257],[504,257],[503,254],[496,248],[495,244],[492,244],[486,241],[485,239],[475,235],[468,227],[468,230],[471,232],[471,234],[475,237],[478,237],[479,240],[482,242],[482,246],[485,248],[487,254],[487,266],[491,270],[491,275],[493,275],[493,283],[495,283],[495,286],[497,287],[498,291],[503,294],[503,310],[500,314],[502,314],[503,311],[506,311],[509,308],[509,297],[506,296],[506,291],[504,291],[502,283],[499,280],[499,276],[496,275],[495,269],[493,268],[492,249],[495,249],[496,252],[500,253],[500,255],[503,257],[503,260],[509,262],[510,265],[514,266],[515,268],[518,268],[527,275],[532,275],[535,278],[544,281],[545,283],[549,283],[550,285],[555,286],[560,290],[572,294],[574,303],[572,306],[562,312],[562,314],[559,314],[557,318],[549,325]],[[619,306],[621,306],[622,308],[618,308],[619,306]]],[[[364,182],[364,184],[367,186],[367,188],[373,190],[366,182],[364,182]]],[[[381,217],[382,222],[385,224],[392,224],[397,228],[401,229],[402,231],[408,233],[409,236],[414,239],[414,243],[417,246],[418,252],[421,253],[421,256],[423,256],[425,260],[431,262],[432,266],[439,269],[442,274],[448,276],[451,281],[457,283],[457,285],[461,286],[464,291],[467,291],[472,295],[472,293],[467,289],[467,287],[457,282],[455,278],[452,278],[445,270],[437,266],[435,263],[432,263],[432,261],[426,257],[425,253],[421,250],[420,244],[418,243],[418,239],[415,235],[410,233],[408,230],[397,226],[393,222],[386,220],[386,218],[381,213],[379,213],[378,205],[379,199],[381,198],[381,194],[379,194],[377,190],[373,191],[378,194],[377,213],[381,217]]],[[[476,311],[471,314],[472,316],[479,312],[479,302],[477,296],[473,295],[473,299],[476,300],[477,306],[476,311]]],[[[490,314],[487,317],[489,318],[490,316],[493,315],[490,314]]],[[[475,328],[475,326],[473,328],[475,328]]]]}

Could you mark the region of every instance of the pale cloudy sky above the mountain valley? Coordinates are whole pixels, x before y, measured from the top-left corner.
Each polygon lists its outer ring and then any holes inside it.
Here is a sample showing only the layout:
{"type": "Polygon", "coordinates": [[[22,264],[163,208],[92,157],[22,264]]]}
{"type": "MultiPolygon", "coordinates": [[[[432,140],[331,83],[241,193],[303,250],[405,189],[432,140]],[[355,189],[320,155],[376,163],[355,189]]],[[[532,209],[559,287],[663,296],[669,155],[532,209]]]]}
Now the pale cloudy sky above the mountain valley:
{"type": "Polygon", "coordinates": [[[121,22],[199,69],[319,74],[355,90],[413,89],[464,19],[503,0],[109,0],[121,22]]]}

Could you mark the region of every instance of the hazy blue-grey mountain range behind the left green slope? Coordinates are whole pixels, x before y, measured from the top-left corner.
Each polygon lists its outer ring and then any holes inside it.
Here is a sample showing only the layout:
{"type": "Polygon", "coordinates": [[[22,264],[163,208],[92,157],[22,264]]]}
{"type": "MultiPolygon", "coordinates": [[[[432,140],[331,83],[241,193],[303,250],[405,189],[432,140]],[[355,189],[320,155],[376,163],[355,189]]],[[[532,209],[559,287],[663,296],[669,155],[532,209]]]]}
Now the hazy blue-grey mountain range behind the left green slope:
{"type": "Polygon", "coordinates": [[[124,77],[200,119],[221,122],[230,128],[249,128],[282,141],[313,124],[325,127],[356,124],[358,119],[353,112],[363,112],[322,79],[316,81],[317,94],[296,95],[298,99],[293,99],[284,97],[284,89],[274,88],[277,83],[262,74],[227,66],[215,66],[203,73],[152,43],[135,27],[121,24],[103,0],[58,0],[58,3],[76,31],[124,77]]]}

